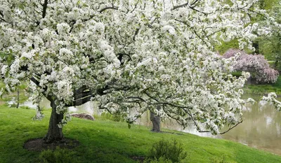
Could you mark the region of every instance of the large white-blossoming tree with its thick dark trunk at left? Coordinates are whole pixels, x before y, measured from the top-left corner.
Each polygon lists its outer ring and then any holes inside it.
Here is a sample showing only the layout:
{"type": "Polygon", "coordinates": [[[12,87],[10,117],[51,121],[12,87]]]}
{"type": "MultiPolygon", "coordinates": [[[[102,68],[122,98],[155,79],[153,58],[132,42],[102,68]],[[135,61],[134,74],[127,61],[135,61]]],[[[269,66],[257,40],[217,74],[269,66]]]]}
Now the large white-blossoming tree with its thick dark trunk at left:
{"type": "Polygon", "coordinates": [[[5,90],[30,82],[35,101],[51,101],[48,143],[64,140],[67,107],[91,100],[127,122],[150,109],[223,134],[242,122],[249,73],[231,76],[235,59],[218,57],[213,44],[237,38],[251,48],[258,26],[250,17],[266,14],[255,2],[3,0],[5,90]]]}

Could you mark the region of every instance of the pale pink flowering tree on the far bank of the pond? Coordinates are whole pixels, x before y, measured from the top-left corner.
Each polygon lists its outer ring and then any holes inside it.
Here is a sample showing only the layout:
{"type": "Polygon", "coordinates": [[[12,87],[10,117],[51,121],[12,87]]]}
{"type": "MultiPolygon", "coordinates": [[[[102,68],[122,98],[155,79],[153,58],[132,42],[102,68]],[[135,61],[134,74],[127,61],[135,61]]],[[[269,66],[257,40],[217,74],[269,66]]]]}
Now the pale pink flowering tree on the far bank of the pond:
{"type": "Polygon", "coordinates": [[[247,71],[251,73],[251,78],[256,79],[256,83],[275,83],[279,76],[278,71],[271,69],[263,55],[248,55],[242,50],[230,49],[223,57],[236,57],[234,71],[247,71]]]}

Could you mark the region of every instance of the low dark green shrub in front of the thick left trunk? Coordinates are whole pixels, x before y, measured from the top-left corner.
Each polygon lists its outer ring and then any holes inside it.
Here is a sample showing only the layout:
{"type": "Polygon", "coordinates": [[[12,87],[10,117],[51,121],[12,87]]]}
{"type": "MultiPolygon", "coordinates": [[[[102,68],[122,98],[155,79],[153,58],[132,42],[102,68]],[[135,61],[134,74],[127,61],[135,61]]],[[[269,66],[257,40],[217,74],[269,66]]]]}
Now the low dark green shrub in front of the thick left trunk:
{"type": "Polygon", "coordinates": [[[44,150],[39,155],[43,163],[74,163],[74,151],[65,148],[56,148],[55,150],[44,150]]]}

